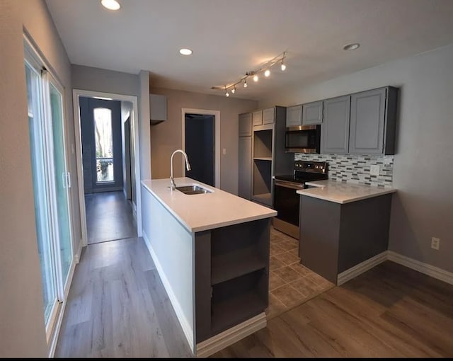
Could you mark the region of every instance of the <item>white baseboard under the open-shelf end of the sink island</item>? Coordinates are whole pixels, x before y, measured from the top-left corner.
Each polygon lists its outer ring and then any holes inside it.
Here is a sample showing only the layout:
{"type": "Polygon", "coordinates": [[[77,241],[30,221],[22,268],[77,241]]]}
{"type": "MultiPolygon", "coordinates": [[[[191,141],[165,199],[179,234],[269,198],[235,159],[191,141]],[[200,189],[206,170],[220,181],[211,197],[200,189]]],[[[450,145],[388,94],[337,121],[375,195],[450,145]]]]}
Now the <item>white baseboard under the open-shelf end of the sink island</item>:
{"type": "Polygon", "coordinates": [[[261,328],[267,326],[266,314],[264,312],[252,317],[239,325],[229,328],[228,330],[219,333],[212,338],[208,338],[200,343],[197,343],[197,357],[208,357],[217,353],[217,351],[232,345],[244,337],[255,333],[261,328]]]}

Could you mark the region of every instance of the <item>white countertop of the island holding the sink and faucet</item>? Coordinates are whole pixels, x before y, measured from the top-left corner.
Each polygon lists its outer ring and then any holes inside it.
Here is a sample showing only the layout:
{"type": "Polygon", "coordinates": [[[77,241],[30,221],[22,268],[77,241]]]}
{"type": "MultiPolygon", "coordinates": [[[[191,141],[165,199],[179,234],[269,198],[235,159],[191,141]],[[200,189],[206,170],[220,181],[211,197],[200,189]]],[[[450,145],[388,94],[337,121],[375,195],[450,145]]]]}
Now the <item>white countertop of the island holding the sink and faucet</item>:
{"type": "MultiPolygon", "coordinates": [[[[175,178],[177,187],[199,184],[212,193],[185,195],[179,190],[170,190],[170,179],[149,179],[142,185],[154,195],[166,209],[191,232],[250,222],[256,219],[275,217],[271,208],[211,187],[191,178],[175,178]]],[[[144,220],[146,222],[146,220],[144,220]]]]}

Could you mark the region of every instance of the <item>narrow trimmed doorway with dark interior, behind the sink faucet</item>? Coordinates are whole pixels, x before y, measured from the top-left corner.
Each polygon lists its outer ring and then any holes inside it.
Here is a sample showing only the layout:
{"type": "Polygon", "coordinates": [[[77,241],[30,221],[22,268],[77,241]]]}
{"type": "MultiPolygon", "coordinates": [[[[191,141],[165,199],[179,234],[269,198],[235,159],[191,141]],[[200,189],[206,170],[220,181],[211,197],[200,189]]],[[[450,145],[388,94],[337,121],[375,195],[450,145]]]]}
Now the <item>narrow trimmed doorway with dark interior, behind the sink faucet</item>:
{"type": "Polygon", "coordinates": [[[219,110],[182,109],[182,145],[188,154],[188,176],[220,188],[220,112],[219,110]]]}

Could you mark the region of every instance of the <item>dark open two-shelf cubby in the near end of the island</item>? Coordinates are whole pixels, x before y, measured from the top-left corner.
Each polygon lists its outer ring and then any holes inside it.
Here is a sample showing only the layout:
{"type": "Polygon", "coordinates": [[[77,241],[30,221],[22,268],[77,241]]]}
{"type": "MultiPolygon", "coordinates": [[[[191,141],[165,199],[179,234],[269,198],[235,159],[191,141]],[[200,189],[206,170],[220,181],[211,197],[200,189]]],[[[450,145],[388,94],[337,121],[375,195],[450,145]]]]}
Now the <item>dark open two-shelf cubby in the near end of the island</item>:
{"type": "Polygon", "coordinates": [[[197,343],[265,311],[270,219],[195,234],[197,343]]]}

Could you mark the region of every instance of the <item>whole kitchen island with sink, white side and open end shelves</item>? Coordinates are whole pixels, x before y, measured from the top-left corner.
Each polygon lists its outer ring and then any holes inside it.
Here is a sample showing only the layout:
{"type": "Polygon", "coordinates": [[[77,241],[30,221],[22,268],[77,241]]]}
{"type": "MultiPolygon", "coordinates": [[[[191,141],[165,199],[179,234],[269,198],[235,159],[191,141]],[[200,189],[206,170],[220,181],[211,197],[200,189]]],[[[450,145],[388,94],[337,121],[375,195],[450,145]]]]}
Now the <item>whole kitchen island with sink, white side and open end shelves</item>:
{"type": "Polygon", "coordinates": [[[266,326],[270,222],[277,212],[191,178],[208,193],[142,181],[143,234],[197,357],[266,326]]]}

